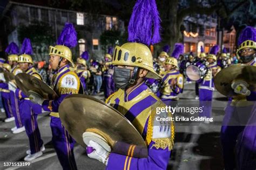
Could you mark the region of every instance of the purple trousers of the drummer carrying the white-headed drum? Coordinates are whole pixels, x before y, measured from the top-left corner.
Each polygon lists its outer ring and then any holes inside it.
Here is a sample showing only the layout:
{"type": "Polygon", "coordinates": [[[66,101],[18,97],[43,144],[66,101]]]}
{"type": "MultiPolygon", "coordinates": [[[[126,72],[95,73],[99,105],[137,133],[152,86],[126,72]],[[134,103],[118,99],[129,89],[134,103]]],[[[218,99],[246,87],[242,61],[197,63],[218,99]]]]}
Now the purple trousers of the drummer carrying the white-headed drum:
{"type": "Polygon", "coordinates": [[[199,107],[203,108],[203,112],[199,113],[200,117],[210,118],[212,115],[212,90],[199,89],[199,107]]]}

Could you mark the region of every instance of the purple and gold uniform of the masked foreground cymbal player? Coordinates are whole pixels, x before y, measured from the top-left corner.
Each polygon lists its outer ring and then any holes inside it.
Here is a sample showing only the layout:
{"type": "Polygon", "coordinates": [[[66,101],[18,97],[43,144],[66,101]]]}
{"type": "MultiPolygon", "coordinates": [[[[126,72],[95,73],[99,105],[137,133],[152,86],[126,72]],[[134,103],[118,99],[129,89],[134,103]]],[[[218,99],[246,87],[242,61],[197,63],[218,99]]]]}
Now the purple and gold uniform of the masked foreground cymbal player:
{"type": "Polygon", "coordinates": [[[159,126],[154,126],[156,121],[153,121],[156,117],[156,108],[166,105],[144,82],[129,94],[119,89],[108,104],[120,111],[142,134],[148,146],[149,157],[133,158],[136,147],[131,147],[127,156],[110,153],[106,169],[166,169],[173,147],[174,124],[172,122],[169,133],[166,133],[159,126]]]}

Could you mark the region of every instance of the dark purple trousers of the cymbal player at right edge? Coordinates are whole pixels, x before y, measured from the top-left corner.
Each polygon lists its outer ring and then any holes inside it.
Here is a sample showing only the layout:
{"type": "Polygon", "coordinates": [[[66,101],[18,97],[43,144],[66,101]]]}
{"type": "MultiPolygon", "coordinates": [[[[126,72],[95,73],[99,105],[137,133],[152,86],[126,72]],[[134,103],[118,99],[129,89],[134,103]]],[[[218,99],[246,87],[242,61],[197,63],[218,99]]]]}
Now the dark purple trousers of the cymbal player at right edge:
{"type": "Polygon", "coordinates": [[[223,158],[225,169],[234,169],[235,164],[235,145],[239,134],[244,130],[250,117],[252,105],[247,107],[234,107],[231,101],[228,102],[221,126],[220,139],[223,147],[223,158]]]}

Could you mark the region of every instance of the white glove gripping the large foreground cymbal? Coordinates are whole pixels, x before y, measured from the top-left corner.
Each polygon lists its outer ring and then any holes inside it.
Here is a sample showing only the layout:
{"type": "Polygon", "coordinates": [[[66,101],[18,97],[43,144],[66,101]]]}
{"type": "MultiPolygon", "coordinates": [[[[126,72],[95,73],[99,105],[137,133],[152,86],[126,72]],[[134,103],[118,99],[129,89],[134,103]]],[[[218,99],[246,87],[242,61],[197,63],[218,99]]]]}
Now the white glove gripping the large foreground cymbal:
{"type": "Polygon", "coordinates": [[[103,164],[107,165],[107,161],[109,161],[109,152],[107,152],[102,146],[96,143],[93,140],[89,141],[89,147],[93,147],[95,150],[88,154],[88,157],[92,159],[97,159],[103,164]]]}

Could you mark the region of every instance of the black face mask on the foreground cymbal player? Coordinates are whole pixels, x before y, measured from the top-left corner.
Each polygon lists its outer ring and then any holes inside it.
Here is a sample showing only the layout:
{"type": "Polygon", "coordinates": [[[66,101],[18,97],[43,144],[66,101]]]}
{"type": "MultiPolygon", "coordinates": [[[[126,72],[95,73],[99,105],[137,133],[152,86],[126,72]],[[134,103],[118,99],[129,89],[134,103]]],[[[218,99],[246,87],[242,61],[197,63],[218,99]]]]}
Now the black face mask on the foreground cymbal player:
{"type": "Polygon", "coordinates": [[[131,69],[115,67],[113,78],[116,87],[125,90],[127,86],[135,82],[136,74],[137,68],[134,68],[131,78],[131,69]]]}

